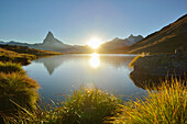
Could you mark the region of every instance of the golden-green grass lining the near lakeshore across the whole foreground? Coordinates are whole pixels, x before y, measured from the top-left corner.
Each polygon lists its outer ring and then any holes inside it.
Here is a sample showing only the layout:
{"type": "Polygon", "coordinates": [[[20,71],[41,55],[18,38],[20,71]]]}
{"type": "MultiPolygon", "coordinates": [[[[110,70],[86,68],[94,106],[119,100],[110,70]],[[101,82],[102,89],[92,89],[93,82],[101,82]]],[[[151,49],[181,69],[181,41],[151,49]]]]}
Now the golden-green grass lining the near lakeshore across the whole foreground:
{"type": "MultiPolygon", "coordinates": [[[[9,53],[14,57],[20,55],[9,53]]],[[[43,103],[41,106],[38,88],[38,83],[26,76],[20,64],[12,60],[1,61],[0,123],[187,123],[186,79],[166,80],[152,90],[145,86],[147,94],[144,99],[129,102],[122,102],[120,97],[102,89],[81,87],[66,95],[65,101],[52,101],[53,105],[43,103]]]]}

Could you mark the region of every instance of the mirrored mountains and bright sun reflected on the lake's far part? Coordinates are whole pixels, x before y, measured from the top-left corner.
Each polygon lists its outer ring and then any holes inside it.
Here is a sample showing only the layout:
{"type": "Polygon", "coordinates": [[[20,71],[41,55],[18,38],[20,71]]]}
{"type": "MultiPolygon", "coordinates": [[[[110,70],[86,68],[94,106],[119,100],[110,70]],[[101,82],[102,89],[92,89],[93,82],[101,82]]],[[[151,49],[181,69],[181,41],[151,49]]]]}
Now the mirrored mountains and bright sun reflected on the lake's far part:
{"type": "Polygon", "coordinates": [[[89,65],[89,67],[91,68],[98,68],[99,66],[101,66],[101,63],[105,63],[118,69],[118,68],[128,66],[133,57],[134,56],[130,56],[130,55],[118,55],[117,56],[117,55],[99,55],[97,53],[94,53],[91,55],[77,54],[77,55],[62,55],[62,56],[38,58],[34,60],[33,63],[43,64],[47,72],[50,75],[53,75],[53,72],[58,67],[61,67],[64,63],[67,63],[67,61],[84,60],[84,64],[89,65]]]}

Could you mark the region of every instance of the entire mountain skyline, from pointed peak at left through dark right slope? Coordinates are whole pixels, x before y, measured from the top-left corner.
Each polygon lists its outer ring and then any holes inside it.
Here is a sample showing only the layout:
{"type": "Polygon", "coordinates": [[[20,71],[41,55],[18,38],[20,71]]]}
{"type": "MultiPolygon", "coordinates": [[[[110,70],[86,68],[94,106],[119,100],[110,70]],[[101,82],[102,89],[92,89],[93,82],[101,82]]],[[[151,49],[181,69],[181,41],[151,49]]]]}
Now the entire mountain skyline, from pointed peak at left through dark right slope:
{"type": "MultiPolygon", "coordinates": [[[[19,42],[2,42],[0,44],[28,46],[36,49],[46,49],[62,53],[92,53],[92,49],[85,45],[68,45],[55,38],[48,32],[43,43],[26,44],[19,42]]],[[[174,23],[163,27],[161,31],[147,35],[145,38],[132,34],[128,38],[114,38],[100,46],[98,53],[174,53],[180,48],[187,52],[187,14],[174,23]]]]}

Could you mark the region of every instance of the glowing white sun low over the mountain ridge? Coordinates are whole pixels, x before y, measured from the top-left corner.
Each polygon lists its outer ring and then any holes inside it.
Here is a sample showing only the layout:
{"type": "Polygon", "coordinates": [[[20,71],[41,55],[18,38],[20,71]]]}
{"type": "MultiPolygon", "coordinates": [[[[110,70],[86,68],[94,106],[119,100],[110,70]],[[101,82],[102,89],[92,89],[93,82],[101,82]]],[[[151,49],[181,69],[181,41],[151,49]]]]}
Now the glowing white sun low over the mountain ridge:
{"type": "Polygon", "coordinates": [[[98,37],[92,37],[89,42],[88,42],[88,46],[90,46],[94,49],[97,49],[99,46],[101,45],[101,41],[98,37]]]}

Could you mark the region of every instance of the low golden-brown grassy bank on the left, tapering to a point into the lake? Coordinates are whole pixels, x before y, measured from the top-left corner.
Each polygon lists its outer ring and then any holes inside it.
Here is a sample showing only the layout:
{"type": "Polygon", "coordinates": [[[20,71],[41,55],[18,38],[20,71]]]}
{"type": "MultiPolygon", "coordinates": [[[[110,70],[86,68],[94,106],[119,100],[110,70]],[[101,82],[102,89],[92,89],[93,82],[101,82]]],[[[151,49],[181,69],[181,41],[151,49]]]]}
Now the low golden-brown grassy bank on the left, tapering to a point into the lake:
{"type": "Polygon", "coordinates": [[[63,53],[29,48],[26,46],[0,45],[0,61],[3,63],[11,61],[21,65],[28,65],[31,63],[31,60],[34,60],[38,57],[62,54],[63,53]]]}

